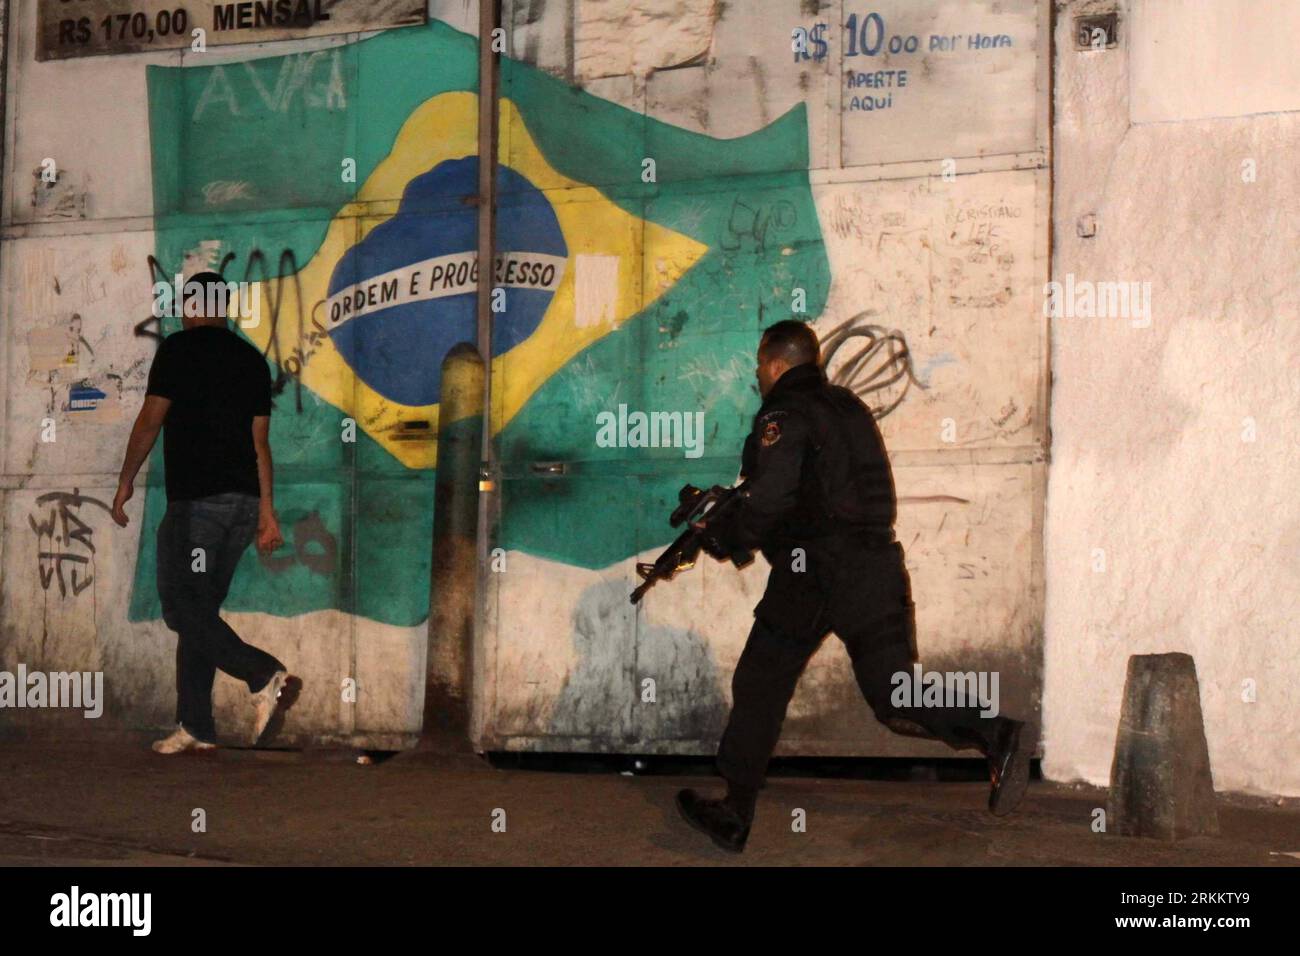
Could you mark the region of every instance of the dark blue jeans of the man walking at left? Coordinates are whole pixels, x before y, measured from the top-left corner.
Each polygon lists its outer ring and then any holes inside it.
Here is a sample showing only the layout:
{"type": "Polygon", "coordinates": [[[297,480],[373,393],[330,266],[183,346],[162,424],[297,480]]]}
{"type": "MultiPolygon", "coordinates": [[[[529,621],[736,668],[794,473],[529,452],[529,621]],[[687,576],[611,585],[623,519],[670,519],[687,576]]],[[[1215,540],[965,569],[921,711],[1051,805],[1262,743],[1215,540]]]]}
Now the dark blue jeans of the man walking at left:
{"type": "Polygon", "coordinates": [[[168,502],[159,525],[162,620],[177,632],[176,719],[213,743],[212,682],[220,667],[256,693],[283,665],[221,619],[239,558],[257,535],[257,498],[237,492],[168,502]]]}

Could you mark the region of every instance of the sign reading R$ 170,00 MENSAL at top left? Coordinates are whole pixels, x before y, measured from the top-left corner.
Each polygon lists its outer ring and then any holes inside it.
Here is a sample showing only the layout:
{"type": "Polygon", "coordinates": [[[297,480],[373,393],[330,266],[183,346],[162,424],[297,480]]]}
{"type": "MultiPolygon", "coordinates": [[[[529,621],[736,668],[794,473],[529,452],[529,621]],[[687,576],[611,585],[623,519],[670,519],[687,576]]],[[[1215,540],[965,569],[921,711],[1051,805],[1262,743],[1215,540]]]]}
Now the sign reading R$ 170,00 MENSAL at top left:
{"type": "Polygon", "coordinates": [[[260,43],[424,23],[422,0],[40,0],[36,59],[260,43]]]}

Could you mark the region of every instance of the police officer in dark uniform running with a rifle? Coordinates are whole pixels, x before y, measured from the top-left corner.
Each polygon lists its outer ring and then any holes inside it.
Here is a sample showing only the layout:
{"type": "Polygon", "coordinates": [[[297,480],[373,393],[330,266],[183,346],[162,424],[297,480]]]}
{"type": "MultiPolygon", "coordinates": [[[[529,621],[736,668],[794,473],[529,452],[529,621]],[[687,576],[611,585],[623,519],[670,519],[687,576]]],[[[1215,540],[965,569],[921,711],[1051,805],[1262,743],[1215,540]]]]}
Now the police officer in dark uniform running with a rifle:
{"type": "Polygon", "coordinates": [[[679,810],[723,849],[745,848],[794,685],[835,631],[876,718],[898,734],[979,749],[993,780],[989,810],[1010,813],[1028,782],[1022,722],[980,717],[974,702],[897,706],[890,700],[893,675],[913,675],[914,606],[893,535],[893,475],[871,411],[827,382],[816,336],[800,321],[763,332],[757,376],[763,405],[741,459],[748,493],[728,519],[702,529],[711,553],[760,549],[771,574],[736,666],[731,719],[718,749],[727,795],[712,800],[684,790],[679,810]]]}

